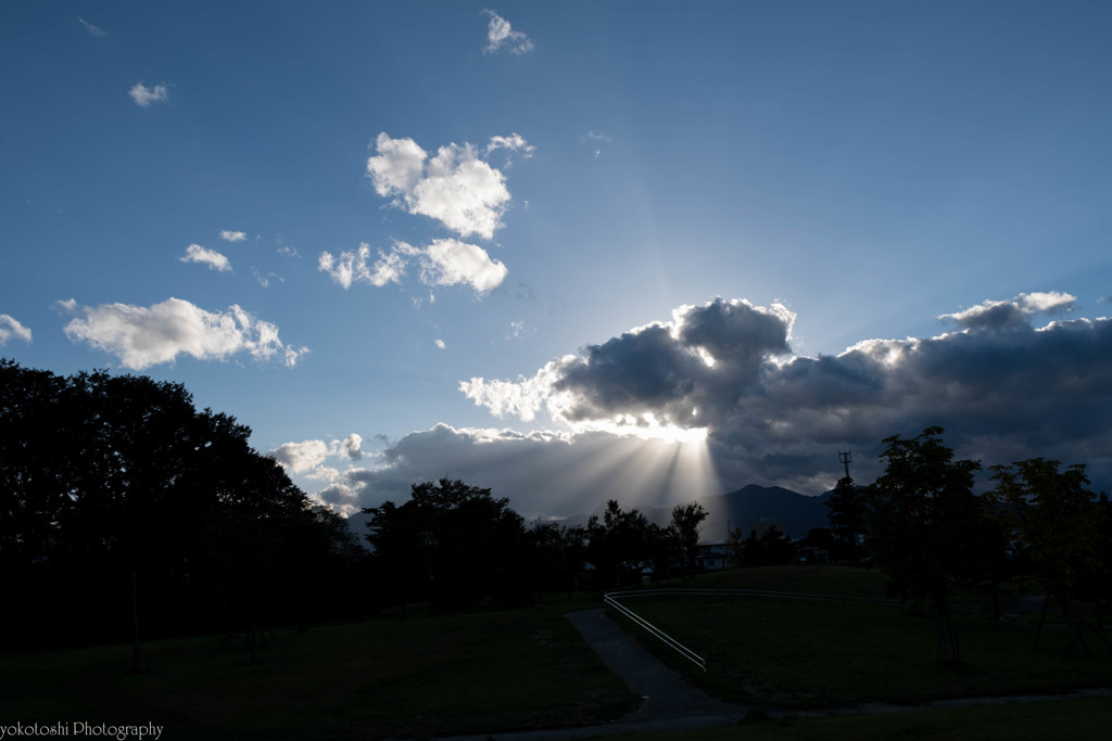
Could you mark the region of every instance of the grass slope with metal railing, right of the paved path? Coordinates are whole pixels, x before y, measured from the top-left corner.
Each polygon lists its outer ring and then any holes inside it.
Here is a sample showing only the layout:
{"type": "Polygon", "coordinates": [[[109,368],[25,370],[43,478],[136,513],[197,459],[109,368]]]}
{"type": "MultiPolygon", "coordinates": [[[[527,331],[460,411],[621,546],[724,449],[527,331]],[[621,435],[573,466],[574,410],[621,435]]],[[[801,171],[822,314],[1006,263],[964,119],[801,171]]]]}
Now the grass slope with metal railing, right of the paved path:
{"type": "MultiPolygon", "coordinates": [[[[743,569],[695,585],[883,595],[880,574],[832,567],[743,569]]],[[[1045,628],[1035,651],[1034,624],[954,613],[962,663],[953,667],[934,660],[937,618],[903,607],[718,597],[637,598],[627,605],[707,660],[704,677],[678,654],[655,649],[693,681],[721,698],[772,708],[1056,692],[1104,685],[1112,669],[1108,647],[1092,639],[1093,657],[1071,650],[1061,624],[1045,628]]]]}

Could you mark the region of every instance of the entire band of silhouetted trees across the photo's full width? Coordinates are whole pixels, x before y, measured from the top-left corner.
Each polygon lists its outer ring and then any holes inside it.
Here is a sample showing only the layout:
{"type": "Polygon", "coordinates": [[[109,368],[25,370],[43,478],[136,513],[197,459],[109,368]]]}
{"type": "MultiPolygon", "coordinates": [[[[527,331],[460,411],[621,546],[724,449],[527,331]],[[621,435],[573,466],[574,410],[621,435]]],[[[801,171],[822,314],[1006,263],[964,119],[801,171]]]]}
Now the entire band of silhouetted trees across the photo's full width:
{"type": "MultiPolygon", "coordinates": [[[[1083,642],[1076,602],[1112,597],[1112,509],[1084,465],[954,460],[927,428],[885,439],[884,472],[848,477],[830,528],[804,544],[873,565],[890,590],[932,605],[939,655],[957,659],[950,602],[1009,584],[1051,594],[1083,642]]],[[[610,500],[585,525],[532,522],[489,489],[441,479],[365,509],[365,539],[315,505],[250,430],[198,411],[177,383],[0,360],[0,648],[130,640],[377,614],[428,603],[512,607],[536,592],[606,591],[696,570],[707,512],[677,504],[666,527],[610,500]]],[[[735,565],[797,558],[783,532],[731,533],[735,565]]],[[[997,604],[999,611],[999,604],[997,604]]],[[[1100,615],[1098,613],[1098,619],[1100,615]]]]}

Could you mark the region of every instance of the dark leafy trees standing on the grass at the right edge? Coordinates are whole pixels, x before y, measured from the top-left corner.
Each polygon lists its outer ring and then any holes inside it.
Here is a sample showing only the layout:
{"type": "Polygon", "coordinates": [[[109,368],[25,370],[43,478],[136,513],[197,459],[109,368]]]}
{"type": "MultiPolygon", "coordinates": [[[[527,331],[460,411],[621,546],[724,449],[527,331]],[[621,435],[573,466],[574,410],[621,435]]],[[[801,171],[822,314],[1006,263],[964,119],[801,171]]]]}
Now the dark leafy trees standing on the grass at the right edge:
{"type": "Polygon", "coordinates": [[[960,660],[953,595],[980,593],[999,618],[1005,587],[1053,598],[1071,645],[1085,648],[1078,602],[1093,602],[1100,621],[1112,598],[1108,497],[1089,488],[1085,465],[1042,458],[990,467],[992,489],[975,494],[981,462],[955,460],[942,433],[885,438],[875,482],[838,481],[828,501],[838,553],[884,572],[891,594],[935,610],[942,661],[960,660]]]}

